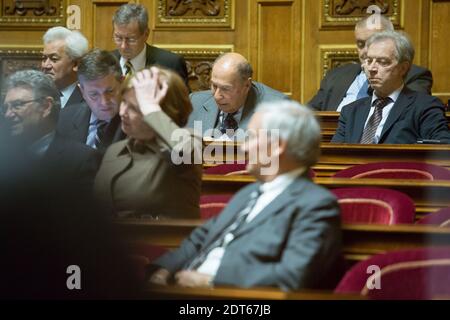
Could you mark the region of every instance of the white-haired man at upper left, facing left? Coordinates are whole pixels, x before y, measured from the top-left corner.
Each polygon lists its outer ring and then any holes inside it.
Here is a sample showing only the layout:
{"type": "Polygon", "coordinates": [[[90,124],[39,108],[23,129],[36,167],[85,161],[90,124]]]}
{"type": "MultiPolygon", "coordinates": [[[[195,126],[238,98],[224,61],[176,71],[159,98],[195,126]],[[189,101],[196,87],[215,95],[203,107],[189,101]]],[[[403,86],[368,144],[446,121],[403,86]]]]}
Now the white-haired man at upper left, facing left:
{"type": "Polygon", "coordinates": [[[53,27],[43,37],[42,71],[55,81],[61,108],[83,101],[77,86],[77,68],[88,51],[87,39],[78,31],[53,27]]]}

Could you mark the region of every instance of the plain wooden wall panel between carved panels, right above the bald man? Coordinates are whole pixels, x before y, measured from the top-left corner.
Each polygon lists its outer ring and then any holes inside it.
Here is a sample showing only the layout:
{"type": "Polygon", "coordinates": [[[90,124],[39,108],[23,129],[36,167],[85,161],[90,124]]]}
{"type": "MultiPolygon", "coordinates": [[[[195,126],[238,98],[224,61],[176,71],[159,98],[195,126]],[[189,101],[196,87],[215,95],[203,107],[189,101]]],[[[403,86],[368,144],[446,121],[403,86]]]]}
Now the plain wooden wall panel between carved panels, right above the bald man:
{"type": "Polygon", "coordinates": [[[251,62],[255,79],[298,99],[300,24],[298,1],[253,0],[251,62]]]}

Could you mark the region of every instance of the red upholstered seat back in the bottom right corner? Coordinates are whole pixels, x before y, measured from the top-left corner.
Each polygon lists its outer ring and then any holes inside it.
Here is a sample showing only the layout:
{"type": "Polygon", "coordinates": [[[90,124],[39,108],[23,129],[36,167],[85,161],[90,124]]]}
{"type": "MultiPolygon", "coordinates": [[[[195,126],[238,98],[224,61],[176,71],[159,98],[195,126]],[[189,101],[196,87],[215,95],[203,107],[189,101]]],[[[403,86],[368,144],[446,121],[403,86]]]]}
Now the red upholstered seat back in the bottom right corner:
{"type": "Polygon", "coordinates": [[[353,266],[335,293],[359,293],[380,300],[448,298],[450,247],[375,255],[353,266]],[[374,271],[377,266],[379,272],[374,271]]]}

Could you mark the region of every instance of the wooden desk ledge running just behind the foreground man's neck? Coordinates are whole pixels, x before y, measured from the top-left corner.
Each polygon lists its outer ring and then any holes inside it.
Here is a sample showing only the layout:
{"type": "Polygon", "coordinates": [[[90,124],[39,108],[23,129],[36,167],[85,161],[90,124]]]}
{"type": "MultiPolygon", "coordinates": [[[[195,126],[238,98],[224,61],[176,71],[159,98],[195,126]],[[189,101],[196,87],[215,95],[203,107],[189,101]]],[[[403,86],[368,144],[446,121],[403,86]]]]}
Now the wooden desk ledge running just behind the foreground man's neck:
{"type": "MultiPolygon", "coordinates": [[[[255,181],[249,175],[203,175],[202,193],[235,193],[255,181]]],[[[403,192],[411,197],[416,206],[416,218],[450,207],[450,181],[447,180],[399,180],[399,179],[347,179],[317,177],[314,181],[326,188],[378,187],[403,192]]]]}

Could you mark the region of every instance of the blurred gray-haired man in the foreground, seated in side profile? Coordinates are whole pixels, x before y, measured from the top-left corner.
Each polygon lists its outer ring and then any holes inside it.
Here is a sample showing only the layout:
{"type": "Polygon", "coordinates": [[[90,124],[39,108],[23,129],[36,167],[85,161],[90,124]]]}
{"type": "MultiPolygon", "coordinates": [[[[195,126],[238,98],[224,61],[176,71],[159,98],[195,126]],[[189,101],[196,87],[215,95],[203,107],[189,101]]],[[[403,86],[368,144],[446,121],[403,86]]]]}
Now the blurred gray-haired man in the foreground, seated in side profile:
{"type": "Polygon", "coordinates": [[[334,287],[341,275],[339,206],[308,177],[320,153],[317,120],[294,101],[266,102],[248,131],[243,151],[257,182],[241,189],[178,250],[154,261],[151,283],[334,287]]]}

